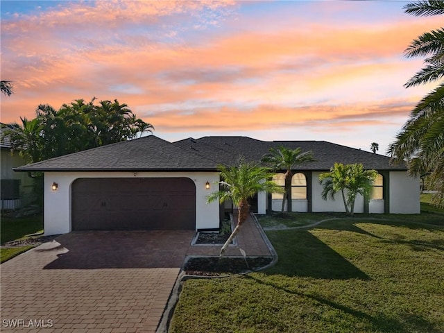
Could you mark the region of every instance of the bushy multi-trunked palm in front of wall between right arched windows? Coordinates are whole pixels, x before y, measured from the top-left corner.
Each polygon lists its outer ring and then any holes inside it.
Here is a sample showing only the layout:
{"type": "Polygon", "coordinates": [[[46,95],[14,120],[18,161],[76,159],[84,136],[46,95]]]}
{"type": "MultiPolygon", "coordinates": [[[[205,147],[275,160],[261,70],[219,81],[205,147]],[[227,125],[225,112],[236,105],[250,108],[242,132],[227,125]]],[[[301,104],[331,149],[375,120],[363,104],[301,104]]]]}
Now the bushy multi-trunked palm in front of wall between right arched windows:
{"type": "Polygon", "coordinates": [[[322,198],[334,200],[334,195],[341,191],[345,213],[353,215],[358,194],[368,198],[376,178],[377,171],[364,170],[362,164],[335,163],[330,172],[321,173],[319,183],[323,185],[322,198]],[[325,182],[324,182],[325,180],[325,182]]]}

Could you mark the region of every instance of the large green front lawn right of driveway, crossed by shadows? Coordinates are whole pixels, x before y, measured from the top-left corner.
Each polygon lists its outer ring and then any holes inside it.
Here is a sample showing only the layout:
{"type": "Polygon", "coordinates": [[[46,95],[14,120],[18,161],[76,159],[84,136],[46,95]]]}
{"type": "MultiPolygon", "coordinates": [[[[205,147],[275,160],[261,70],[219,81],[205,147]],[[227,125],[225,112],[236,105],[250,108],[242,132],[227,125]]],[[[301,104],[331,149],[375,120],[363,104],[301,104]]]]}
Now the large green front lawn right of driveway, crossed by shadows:
{"type": "Polygon", "coordinates": [[[170,332],[444,332],[444,228],[398,218],[268,231],[278,264],[187,280],[170,332]]]}

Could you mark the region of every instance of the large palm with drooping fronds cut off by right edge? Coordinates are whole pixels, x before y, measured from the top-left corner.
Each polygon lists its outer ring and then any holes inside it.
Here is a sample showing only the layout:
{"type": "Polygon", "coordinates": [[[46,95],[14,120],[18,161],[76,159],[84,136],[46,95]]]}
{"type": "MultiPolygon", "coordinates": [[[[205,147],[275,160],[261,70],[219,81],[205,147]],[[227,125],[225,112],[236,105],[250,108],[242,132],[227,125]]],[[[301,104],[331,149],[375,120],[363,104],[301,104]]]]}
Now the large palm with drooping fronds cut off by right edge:
{"type": "MultiPolygon", "coordinates": [[[[416,16],[444,15],[444,1],[415,1],[404,6],[416,16]]],[[[406,56],[425,56],[426,66],[405,87],[441,80],[444,76],[444,28],[420,35],[406,50],[406,56]]],[[[429,184],[438,190],[434,203],[444,207],[444,83],[427,94],[413,108],[396,141],[388,148],[393,162],[407,160],[409,173],[430,173],[429,184]],[[418,163],[418,160],[422,160],[418,163]],[[421,166],[421,168],[418,168],[421,166]],[[424,169],[425,168],[425,169],[424,169]]]]}

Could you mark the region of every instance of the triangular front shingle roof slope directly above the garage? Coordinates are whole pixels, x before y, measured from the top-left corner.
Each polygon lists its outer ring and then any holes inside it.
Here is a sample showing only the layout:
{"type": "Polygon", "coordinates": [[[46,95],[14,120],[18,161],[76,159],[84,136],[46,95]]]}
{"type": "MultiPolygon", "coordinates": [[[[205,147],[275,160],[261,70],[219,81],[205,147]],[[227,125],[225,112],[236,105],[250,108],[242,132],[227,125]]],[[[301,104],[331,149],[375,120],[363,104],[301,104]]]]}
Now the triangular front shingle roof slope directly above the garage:
{"type": "Polygon", "coordinates": [[[19,167],[17,171],[214,170],[216,163],[155,135],[19,167]]]}

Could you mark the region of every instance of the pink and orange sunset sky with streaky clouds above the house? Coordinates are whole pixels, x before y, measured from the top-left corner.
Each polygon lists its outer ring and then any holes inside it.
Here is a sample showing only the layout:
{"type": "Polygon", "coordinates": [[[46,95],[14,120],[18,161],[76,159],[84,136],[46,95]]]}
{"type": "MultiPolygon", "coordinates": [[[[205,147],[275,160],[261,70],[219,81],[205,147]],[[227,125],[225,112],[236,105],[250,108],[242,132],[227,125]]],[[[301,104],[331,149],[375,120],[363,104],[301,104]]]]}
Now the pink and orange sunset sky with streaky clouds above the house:
{"type": "Polygon", "coordinates": [[[411,1],[1,1],[1,122],[117,99],[175,141],[205,135],[388,144],[434,85],[411,1]]]}

